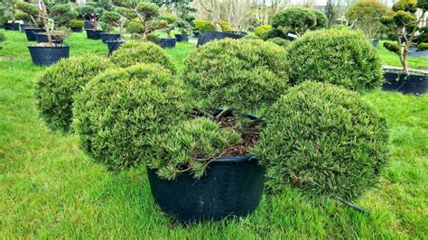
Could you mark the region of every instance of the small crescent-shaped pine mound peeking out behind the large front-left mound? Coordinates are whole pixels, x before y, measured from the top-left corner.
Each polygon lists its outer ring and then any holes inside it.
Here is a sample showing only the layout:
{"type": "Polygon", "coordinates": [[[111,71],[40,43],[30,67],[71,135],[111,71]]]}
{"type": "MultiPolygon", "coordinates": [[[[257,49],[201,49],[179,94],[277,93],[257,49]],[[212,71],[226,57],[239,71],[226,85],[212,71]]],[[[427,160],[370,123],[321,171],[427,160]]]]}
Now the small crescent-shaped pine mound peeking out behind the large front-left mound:
{"type": "Polygon", "coordinates": [[[142,63],[156,63],[172,72],[176,70],[172,58],[152,42],[126,42],[113,53],[110,61],[118,68],[127,68],[142,63]]]}

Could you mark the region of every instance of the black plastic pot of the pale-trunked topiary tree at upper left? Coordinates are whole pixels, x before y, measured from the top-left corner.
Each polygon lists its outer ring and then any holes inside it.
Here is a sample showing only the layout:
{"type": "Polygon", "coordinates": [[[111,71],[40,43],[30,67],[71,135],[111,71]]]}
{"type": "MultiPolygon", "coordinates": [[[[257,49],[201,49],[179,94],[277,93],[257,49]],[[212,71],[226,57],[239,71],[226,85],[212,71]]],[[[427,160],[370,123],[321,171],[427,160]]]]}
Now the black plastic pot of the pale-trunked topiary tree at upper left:
{"type": "Polygon", "coordinates": [[[40,66],[49,66],[61,59],[70,57],[70,45],[55,46],[28,46],[33,63],[40,66]]]}

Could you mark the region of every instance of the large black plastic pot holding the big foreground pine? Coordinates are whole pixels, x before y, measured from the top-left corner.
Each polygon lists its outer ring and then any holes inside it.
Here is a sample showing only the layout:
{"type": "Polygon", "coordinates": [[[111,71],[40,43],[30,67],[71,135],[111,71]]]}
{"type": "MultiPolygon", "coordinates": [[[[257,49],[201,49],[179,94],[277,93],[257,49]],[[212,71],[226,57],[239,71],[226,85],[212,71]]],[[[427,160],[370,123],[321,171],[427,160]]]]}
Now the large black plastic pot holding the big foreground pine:
{"type": "Polygon", "coordinates": [[[147,169],[154,201],[182,222],[245,217],[260,203],[265,168],[251,156],[221,157],[209,163],[200,180],[188,172],[162,180],[147,169]]]}

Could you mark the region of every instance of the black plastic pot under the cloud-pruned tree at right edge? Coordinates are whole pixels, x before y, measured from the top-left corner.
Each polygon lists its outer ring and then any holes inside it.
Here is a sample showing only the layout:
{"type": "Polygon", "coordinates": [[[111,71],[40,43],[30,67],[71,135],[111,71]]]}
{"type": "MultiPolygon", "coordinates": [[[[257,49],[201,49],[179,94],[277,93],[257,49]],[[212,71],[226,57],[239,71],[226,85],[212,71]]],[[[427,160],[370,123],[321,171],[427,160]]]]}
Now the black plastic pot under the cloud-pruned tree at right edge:
{"type": "Polygon", "coordinates": [[[384,91],[396,91],[404,94],[422,95],[428,93],[428,74],[405,74],[397,71],[385,71],[384,91]]]}

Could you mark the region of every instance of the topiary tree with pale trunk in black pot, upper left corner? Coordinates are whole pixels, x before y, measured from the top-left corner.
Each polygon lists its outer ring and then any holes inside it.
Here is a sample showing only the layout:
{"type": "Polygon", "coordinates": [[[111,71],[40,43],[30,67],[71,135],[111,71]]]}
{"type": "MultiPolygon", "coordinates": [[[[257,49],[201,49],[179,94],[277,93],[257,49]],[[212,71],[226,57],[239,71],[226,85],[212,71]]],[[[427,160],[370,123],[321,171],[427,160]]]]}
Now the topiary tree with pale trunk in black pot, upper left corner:
{"type": "MultiPolygon", "coordinates": [[[[40,9],[33,9],[31,11],[33,14],[30,15],[35,14],[34,10],[38,11],[38,16],[42,19],[44,26],[45,32],[43,36],[46,37],[47,41],[37,45],[28,46],[28,48],[30,50],[30,54],[32,55],[34,64],[42,66],[51,65],[60,59],[69,58],[70,55],[70,45],[56,43],[61,41],[63,37],[67,35],[67,33],[60,30],[55,30],[55,26],[58,23],[65,23],[70,19],[75,18],[77,13],[71,11],[70,5],[54,5],[51,7],[50,14],[48,14],[44,2],[39,0],[38,4],[40,9]]],[[[21,9],[23,10],[23,8],[21,9]]]]}

